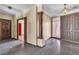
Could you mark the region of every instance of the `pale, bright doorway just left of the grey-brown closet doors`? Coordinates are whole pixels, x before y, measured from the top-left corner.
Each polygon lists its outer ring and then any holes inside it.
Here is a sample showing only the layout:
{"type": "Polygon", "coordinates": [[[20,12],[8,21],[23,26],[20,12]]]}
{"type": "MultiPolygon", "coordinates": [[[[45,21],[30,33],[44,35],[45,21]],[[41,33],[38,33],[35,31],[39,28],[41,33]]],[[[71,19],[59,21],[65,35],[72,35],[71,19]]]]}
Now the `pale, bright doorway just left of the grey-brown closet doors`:
{"type": "Polygon", "coordinates": [[[60,18],[53,18],[53,34],[54,38],[60,38],[60,18]]]}

